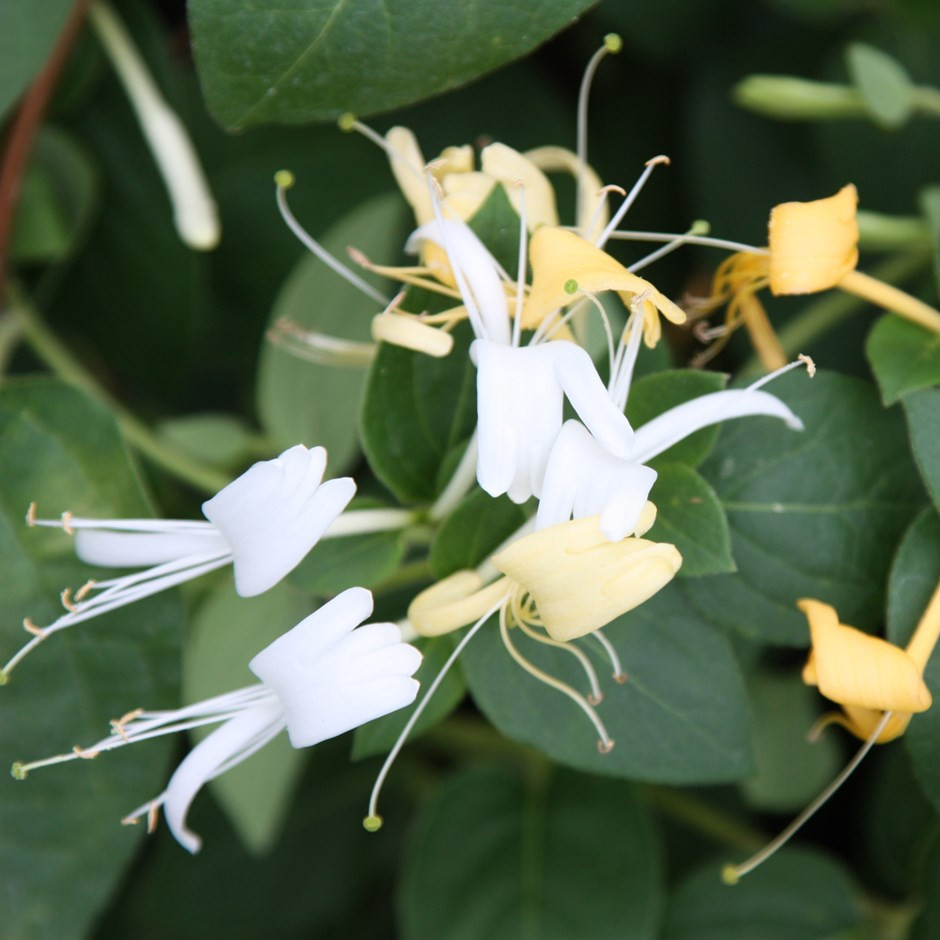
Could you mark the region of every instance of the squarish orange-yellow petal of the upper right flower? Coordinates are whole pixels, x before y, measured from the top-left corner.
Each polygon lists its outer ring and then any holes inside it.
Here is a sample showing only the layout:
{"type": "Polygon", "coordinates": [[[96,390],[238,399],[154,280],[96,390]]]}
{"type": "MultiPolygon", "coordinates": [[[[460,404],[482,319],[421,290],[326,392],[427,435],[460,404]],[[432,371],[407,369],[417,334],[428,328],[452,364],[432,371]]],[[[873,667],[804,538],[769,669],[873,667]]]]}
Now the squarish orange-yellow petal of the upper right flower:
{"type": "Polygon", "coordinates": [[[858,262],[858,191],[784,202],[770,213],[770,290],[810,294],[835,287],[858,262]]]}

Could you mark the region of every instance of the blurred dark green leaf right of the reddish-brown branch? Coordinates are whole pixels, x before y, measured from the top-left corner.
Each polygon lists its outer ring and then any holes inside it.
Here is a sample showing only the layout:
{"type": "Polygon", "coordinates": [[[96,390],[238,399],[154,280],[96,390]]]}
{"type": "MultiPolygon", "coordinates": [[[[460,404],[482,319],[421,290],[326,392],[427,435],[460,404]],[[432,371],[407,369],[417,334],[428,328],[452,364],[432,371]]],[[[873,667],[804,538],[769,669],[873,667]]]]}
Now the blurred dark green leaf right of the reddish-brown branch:
{"type": "Polygon", "coordinates": [[[84,234],[97,195],[84,151],[62,131],[44,128],[23,180],[11,258],[23,264],[64,259],[84,234]]]}

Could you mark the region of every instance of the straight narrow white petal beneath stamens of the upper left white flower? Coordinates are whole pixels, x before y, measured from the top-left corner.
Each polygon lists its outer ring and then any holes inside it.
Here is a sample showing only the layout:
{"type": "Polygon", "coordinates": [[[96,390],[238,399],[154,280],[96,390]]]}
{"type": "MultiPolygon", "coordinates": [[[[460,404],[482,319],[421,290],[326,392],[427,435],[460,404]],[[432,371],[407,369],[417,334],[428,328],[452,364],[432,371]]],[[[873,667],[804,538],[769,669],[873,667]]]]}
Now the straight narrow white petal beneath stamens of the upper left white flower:
{"type": "Polygon", "coordinates": [[[204,529],[192,523],[179,532],[115,532],[105,529],[77,529],[75,554],[86,564],[104,568],[149,568],[189,555],[228,551],[228,542],[215,526],[204,529]]]}

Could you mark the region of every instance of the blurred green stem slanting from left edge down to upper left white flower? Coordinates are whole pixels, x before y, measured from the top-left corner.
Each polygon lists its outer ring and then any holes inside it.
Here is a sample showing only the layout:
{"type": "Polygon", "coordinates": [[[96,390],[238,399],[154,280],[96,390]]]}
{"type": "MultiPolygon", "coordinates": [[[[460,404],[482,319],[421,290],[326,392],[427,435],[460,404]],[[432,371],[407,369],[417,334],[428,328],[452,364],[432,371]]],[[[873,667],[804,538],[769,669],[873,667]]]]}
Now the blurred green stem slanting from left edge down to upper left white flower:
{"type": "Polygon", "coordinates": [[[72,355],[49,329],[26,296],[13,284],[7,285],[9,311],[16,317],[23,335],[36,355],[60,379],[96,399],[114,415],[128,443],[158,467],[202,490],[215,493],[229,483],[229,477],[194,460],[171,444],[160,440],[139,418],[98,384],[94,376],[72,355]]]}

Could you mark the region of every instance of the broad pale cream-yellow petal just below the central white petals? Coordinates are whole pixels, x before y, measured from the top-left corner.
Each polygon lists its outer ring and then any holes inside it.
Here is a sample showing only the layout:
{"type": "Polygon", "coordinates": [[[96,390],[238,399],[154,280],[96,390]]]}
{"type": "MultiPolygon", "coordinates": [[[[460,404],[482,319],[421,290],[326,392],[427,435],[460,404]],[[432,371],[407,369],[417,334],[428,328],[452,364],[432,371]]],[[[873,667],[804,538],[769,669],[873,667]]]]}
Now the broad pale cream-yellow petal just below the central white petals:
{"type": "Polygon", "coordinates": [[[532,596],[548,635],[560,642],[592,633],[649,600],[682,564],[675,545],[610,542],[600,517],[534,532],[493,556],[493,564],[532,596]]]}

